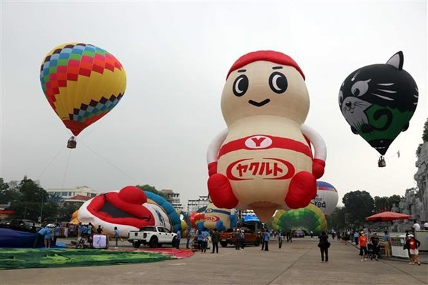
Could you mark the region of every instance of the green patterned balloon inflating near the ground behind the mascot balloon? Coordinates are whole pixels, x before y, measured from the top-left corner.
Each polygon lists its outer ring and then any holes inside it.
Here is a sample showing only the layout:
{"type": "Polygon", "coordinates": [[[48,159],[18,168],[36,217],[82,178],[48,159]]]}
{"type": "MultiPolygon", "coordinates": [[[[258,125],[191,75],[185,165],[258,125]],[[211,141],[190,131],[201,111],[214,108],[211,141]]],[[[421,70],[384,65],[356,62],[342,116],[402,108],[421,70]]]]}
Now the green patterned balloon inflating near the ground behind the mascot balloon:
{"type": "Polygon", "coordinates": [[[272,217],[272,226],[275,230],[311,230],[320,235],[327,230],[327,220],[324,213],[313,204],[295,210],[277,210],[272,217]]]}

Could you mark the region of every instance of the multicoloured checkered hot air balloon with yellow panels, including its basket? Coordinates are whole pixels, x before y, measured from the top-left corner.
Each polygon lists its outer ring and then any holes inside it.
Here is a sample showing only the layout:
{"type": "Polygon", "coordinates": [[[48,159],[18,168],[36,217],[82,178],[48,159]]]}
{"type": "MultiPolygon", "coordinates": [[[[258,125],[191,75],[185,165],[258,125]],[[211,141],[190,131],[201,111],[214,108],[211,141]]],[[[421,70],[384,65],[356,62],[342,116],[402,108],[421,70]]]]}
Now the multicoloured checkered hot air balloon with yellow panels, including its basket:
{"type": "Polygon", "coordinates": [[[86,43],[65,43],[43,59],[40,82],[52,109],[73,136],[112,110],[124,96],[126,73],[109,52],[86,43]]]}

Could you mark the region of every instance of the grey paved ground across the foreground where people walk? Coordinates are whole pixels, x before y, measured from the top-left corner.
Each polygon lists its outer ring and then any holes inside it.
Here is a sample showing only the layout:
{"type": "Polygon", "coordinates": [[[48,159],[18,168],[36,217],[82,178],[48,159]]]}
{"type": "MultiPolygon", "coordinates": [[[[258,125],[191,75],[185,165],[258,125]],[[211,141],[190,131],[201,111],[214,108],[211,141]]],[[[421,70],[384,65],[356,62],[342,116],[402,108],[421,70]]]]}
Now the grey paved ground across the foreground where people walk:
{"type": "Polygon", "coordinates": [[[269,252],[220,247],[219,254],[148,264],[0,271],[0,284],[428,284],[427,255],[421,266],[405,259],[361,262],[354,246],[333,241],[330,260],[322,263],[315,239],[269,245],[269,252]]]}

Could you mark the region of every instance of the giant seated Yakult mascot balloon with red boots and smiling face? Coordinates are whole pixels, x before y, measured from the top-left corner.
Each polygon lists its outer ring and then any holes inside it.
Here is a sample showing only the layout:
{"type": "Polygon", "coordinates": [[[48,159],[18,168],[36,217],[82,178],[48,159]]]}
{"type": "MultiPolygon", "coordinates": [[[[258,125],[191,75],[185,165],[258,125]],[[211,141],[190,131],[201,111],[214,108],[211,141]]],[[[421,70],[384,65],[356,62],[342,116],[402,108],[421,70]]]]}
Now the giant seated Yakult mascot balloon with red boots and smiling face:
{"type": "Polygon", "coordinates": [[[262,50],[233,63],[222,92],[228,128],[207,152],[215,206],[253,209],[262,222],[308,206],[327,157],[322,137],[303,124],[308,112],[304,74],[288,55],[262,50]]]}

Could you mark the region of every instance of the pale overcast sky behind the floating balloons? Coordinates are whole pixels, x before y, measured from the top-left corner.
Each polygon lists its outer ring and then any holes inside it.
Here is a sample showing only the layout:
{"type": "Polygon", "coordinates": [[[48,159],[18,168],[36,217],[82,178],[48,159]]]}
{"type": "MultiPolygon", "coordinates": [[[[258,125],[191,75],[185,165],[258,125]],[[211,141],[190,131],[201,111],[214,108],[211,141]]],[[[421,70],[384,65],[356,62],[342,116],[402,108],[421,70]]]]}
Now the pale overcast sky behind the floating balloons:
{"type": "Polygon", "coordinates": [[[206,195],[206,150],[226,128],[226,74],[248,52],[276,50],[306,76],[305,124],[327,144],[324,176],[345,193],[404,195],[416,187],[416,148],[428,117],[427,1],[1,1],[0,177],[48,188],[100,192],[149,184],[188,199],[206,195]],[[66,148],[71,132],[41,90],[45,55],[91,43],[124,66],[126,92],[66,148]],[[353,70],[404,53],[419,88],[409,129],[391,144],[387,167],[353,135],[338,107],[353,70]],[[400,157],[396,153],[400,151],[400,157]]]}

